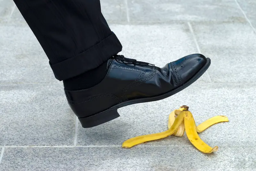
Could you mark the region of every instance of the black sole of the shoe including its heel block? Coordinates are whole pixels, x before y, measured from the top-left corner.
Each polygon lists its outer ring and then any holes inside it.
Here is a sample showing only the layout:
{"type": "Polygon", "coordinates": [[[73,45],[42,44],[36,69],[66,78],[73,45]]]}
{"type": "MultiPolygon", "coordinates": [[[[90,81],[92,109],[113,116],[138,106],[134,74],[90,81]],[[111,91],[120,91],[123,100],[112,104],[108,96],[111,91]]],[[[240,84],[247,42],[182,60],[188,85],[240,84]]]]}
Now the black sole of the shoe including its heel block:
{"type": "Polygon", "coordinates": [[[165,99],[167,97],[170,97],[173,94],[176,94],[176,93],[180,92],[181,90],[187,88],[189,85],[194,83],[198,78],[200,78],[204,74],[204,72],[209,68],[210,65],[211,65],[211,59],[207,58],[206,64],[202,67],[202,69],[200,71],[198,71],[186,83],[184,83],[183,85],[173,89],[172,91],[170,91],[168,93],[165,93],[165,94],[162,94],[162,95],[159,95],[159,96],[154,96],[154,97],[124,101],[124,102],[119,103],[115,106],[112,106],[111,108],[109,108],[105,111],[102,111],[100,113],[97,113],[97,114],[94,114],[94,115],[91,115],[91,116],[87,116],[87,117],[78,118],[78,119],[81,122],[83,128],[91,128],[91,127],[100,125],[102,123],[106,123],[108,121],[111,121],[111,120],[116,119],[117,117],[119,117],[120,115],[117,112],[118,108],[122,108],[124,106],[128,106],[128,105],[131,105],[131,104],[136,104],[136,103],[144,103],[144,102],[162,100],[162,99],[165,99]]]}

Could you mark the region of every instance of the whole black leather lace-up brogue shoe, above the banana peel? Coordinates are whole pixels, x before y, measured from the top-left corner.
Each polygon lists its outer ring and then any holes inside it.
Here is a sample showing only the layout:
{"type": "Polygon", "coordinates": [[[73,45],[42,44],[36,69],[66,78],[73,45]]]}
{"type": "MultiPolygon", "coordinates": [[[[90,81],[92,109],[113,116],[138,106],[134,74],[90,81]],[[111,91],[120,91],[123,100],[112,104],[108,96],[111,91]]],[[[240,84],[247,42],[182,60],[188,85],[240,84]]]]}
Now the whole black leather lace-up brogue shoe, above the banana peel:
{"type": "Polygon", "coordinates": [[[65,90],[69,106],[84,128],[119,117],[117,109],[161,100],[191,85],[208,69],[209,58],[188,55],[163,68],[116,55],[108,61],[108,74],[92,88],[65,90]]]}

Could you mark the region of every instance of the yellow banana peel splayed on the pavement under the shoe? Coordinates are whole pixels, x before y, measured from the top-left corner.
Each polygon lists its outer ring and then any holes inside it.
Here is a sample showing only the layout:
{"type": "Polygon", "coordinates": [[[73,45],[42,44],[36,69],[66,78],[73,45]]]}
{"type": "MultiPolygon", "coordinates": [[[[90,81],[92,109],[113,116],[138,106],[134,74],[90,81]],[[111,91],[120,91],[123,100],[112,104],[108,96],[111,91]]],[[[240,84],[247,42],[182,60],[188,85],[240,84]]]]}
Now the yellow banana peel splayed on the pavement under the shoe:
{"type": "Polygon", "coordinates": [[[182,137],[186,131],[187,137],[191,144],[193,144],[199,151],[203,153],[212,153],[218,150],[218,146],[210,147],[198,136],[198,133],[206,130],[210,126],[220,123],[228,122],[227,116],[214,116],[200,125],[196,126],[192,113],[188,110],[188,106],[181,106],[171,112],[168,120],[168,130],[156,134],[149,134],[134,137],[124,141],[123,148],[131,148],[134,145],[146,143],[157,139],[166,138],[170,135],[182,137]]]}

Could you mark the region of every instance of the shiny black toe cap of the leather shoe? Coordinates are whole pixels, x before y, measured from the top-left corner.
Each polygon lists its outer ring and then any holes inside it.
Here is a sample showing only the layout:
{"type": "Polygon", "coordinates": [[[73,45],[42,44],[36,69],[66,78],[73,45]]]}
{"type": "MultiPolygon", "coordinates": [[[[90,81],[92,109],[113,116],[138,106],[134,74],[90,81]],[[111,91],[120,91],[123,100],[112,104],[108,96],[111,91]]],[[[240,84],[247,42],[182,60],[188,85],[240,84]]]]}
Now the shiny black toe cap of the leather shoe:
{"type": "MultiPolygon", "coordinates": [[[[184,56],[173,62],[174,70],[179,73],[181,82],[185,83],[192,78],[207,63],[207,59],[201,54],[184,56]]],[[[175,72],[175,71],[174,71],[175,72]]]]}

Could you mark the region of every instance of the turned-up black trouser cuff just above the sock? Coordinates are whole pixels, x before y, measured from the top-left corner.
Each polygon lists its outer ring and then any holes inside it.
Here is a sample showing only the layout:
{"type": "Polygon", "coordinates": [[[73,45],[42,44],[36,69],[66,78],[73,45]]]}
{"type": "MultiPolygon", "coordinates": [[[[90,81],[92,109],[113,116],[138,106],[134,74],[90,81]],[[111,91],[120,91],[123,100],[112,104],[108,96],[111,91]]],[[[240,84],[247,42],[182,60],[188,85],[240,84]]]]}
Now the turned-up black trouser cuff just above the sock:
{"type": "Polygon", "coordinates": [[[122,50],[122,45],[112,32],[110,36],[88,50],[60,63],[51,65],[55,78],[65,80],[92,70],[122,50]]]}

